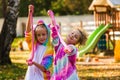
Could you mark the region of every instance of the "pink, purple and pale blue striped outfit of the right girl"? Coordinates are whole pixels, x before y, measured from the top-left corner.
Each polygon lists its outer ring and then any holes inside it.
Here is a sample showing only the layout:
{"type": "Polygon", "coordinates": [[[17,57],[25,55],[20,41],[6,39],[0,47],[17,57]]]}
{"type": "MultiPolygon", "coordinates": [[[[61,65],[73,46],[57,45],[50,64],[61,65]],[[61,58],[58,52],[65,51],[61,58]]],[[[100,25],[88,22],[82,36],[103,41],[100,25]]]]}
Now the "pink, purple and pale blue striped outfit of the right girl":
{"type": "Polygon", "coordinates": [[[55,29],[52,29],[53,45],[55,48],[54,73],[51,80],[79,80],[76,72],[77,48],[74,45],[71,54],[64,52],[64,46],[57,36],[55,29]]]}

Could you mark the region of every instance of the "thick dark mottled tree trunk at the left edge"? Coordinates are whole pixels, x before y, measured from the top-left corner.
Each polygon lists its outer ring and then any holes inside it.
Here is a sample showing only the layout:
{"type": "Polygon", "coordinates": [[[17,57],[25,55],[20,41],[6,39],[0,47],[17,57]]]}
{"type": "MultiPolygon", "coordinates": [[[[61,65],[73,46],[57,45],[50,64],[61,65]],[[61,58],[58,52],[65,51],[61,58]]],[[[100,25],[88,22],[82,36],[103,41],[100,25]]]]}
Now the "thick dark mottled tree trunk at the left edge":
{"type": "Polygon", "coordinates": [[[8,0],[7,12],[0,34],[0,64],[11,64],[9,52],[16,37],[19,0],[8,0]]]}

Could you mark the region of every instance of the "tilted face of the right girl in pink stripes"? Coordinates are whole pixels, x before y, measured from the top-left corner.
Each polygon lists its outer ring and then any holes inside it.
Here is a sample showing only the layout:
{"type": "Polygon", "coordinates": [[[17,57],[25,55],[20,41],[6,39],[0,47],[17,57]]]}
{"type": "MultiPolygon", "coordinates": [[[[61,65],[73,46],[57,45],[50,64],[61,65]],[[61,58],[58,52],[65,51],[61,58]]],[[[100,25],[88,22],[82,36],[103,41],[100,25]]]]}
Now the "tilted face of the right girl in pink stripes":
{"type": "Polygon", "coordinates": [[[75,45],[78,43],[80,36],[79,30],[74,30],[67,35],[66,43],[75,45]]]}

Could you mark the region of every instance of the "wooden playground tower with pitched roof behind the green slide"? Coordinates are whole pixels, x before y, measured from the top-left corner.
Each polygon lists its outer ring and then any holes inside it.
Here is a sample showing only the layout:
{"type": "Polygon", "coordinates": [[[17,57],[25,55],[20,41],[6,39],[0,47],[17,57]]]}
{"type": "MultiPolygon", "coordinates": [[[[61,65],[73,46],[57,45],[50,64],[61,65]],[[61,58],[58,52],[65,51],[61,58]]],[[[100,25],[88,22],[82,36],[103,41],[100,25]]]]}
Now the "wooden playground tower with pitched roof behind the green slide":
{"type": "Polygon", "coordinates": [[[108,24],[111,23],[112,27],[105,32],[107,49],[110,49],[110,43],[113,46],[112,51],[115,47],[115,36],[120,34],[115,34],[115,32],[120,32],[120,0],[93,0],[89,7],[90,11],[94,12],[95,25],[108,24]],[[112,34],[110,34],[112,32],[112,34]],[[111,39],[111,36],[113,39],[111,39]]]}

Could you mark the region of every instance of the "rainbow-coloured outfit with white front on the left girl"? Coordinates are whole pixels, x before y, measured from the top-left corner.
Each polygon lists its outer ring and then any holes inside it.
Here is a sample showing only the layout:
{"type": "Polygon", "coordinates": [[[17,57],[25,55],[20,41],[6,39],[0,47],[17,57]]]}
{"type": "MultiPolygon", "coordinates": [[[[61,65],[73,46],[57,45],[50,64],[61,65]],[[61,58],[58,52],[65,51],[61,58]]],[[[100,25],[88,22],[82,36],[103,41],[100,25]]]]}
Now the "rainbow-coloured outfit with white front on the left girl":
{"type": "MultiPolygon", "coordinates": [[[[38,42],[34,42],[34,58],[33,61],[39,63],[40,65],[44,66],[46,72],[42,72],[38,67],[35,65],[28,66],[25,80],[50,80],[52,63],[53,63],[53,53],[54,50],[50,43],[50,29],[46,26],[48,30],[48,39],[46,40],[45,44],[39,44],[38,42]]],[[[28,43],[28,47],[32,49],[32,34],[31,32],[25,32],[25,40],[28,43]]]]}

